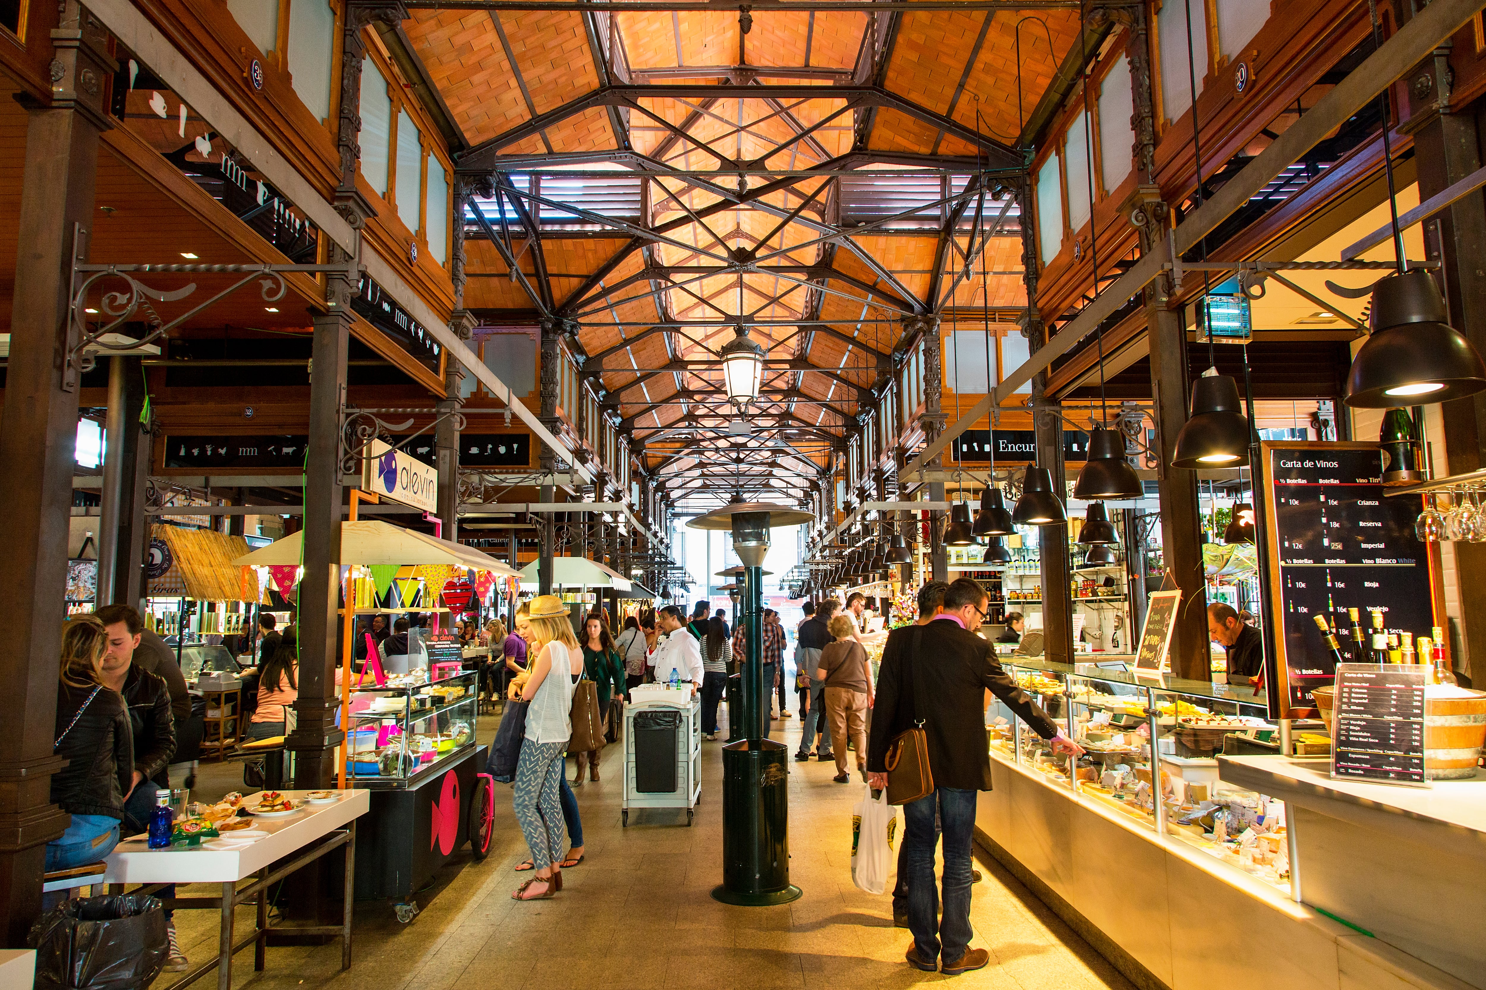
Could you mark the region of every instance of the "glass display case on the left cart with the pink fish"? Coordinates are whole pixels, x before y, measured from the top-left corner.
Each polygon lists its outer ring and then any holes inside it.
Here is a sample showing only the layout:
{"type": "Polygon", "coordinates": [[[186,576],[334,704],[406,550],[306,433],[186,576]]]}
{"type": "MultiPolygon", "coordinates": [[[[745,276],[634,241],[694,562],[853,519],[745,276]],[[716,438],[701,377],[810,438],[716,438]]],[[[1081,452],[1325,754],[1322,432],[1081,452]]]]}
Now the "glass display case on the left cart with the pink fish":
{"type": "Polygon", "coordinates": [[[474,746],[477,672],[428,681],[426,667],[351,691],[346,776],[357,786],[407,786],[474,746]]]}

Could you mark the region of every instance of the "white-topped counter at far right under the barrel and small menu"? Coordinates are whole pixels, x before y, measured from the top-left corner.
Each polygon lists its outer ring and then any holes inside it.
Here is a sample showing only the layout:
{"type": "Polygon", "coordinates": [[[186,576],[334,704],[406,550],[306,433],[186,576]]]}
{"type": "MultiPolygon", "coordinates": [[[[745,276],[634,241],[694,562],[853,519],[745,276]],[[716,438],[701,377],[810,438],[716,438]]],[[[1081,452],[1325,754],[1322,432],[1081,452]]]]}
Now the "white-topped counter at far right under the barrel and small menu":
{"type": "Polygon", "coordinates": [[[1486,987],[1486,773],[1407,788],[1282,757],[1221,757],[1219,773],[1290,809],[1305,904],[1486,987]]]}

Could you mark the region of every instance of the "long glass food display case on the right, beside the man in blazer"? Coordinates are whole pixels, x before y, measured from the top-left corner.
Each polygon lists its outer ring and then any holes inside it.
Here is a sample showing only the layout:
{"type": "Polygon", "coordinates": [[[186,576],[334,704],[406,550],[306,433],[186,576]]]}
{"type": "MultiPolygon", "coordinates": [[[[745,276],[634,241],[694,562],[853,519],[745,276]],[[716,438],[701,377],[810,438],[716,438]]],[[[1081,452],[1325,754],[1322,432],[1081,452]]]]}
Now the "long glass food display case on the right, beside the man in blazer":
{"type": "Polygon", "coordinates": [[[1242,751],[1245,743],[1263,746],[1276,734],[1265,719],[1262,694],[1169,676],[1140,679],[1114,669],[1122,664],[1070,666],[1021,657],[1002,663],[1085,755],[1070,761],[1054,754],[997,700],[987,711],[993,755],[1290,889],[1284,804],[1219,780],[1217,754],[1242,751]]]}

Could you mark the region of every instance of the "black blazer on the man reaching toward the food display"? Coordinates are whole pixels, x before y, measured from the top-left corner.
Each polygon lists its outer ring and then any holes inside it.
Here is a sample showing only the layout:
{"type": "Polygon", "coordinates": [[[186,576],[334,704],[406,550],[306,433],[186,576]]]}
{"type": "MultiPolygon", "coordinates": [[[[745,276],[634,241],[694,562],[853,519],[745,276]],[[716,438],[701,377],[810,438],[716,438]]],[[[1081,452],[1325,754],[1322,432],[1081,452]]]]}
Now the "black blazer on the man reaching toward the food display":
{"type": "Polygon", "coordinates": [[[924,731],[929,734],[929,769],[936,788],[991,789],[991,755],[985,740],[987,688],[1043,739],[1058,734],[1058,725],[996,661],[988,642],[954,620],[936,618],[927,626],[895,629],[887,636],[866,743],[869,771],[887,770],[887,743],[917,721],[915,663],[924,688],[924,731]]]}

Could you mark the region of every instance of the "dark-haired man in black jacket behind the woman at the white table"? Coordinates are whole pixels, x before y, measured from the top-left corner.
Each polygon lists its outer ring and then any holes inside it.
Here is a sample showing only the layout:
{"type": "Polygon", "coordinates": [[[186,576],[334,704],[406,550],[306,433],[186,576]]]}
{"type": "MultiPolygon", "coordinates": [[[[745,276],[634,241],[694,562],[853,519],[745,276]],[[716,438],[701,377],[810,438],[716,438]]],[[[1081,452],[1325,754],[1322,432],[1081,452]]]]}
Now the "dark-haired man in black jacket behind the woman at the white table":
{"type": "MultiPolygon", "coordinates": [[[[108,653],[100,669],[103,685],[117,691],[129,706],[129,725],[134,731],[134,782],[123,798],[123,829],[137,835],[150,826],[155,810],[155,791],[169,789],[168,767],[175,754],[175,719],[171,715],[171,693],[165,679],[134,663],[134,651],[140,645],[144,621],[140,612],[128,605],[106,605],[97,612],[108,635],[108,653]]],[[[175,887],[163,887],[160,898],[175,896],[175,887]]],[[[187,960],[175,941],[175,922],[165,911],[168,923],[169,957],[165,969],[186,969],[187,960]]]]}

